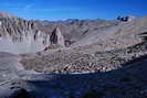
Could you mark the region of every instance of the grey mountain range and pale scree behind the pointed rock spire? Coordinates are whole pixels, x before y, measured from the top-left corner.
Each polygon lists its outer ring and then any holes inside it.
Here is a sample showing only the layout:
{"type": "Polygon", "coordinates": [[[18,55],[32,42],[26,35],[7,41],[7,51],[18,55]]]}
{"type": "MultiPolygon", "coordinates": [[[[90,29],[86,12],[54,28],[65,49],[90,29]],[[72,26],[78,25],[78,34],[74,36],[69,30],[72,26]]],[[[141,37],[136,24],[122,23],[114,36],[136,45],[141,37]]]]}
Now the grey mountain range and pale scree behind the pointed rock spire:
{"type": "Polygon", "coordinates": [[[60,29],[65,46],[71,46],[85,35],[118,24],[105,20],[67,20],[57,22],[28,21],[0,12],[0,51],[10,53],[34,53],[51,45],[50,35],[60,29]]]}

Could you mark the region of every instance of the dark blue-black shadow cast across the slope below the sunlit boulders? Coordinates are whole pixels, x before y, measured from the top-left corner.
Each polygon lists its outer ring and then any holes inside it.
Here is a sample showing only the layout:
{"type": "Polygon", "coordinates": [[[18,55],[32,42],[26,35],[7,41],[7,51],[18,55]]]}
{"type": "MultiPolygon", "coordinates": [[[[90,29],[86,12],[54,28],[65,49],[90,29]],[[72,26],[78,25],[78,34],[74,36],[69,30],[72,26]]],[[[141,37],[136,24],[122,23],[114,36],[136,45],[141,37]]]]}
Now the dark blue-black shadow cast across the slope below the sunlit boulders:
{"type": "Polygon", "coordinates": [[[44,77],[45,80],[34,79],[28,83],[35,86],[36,94],[45,97],[62,95],[78,98],[92,89],[101,94],[101,97],[95,98],[146,98],[141,90],[147,89],[147,55],[123,66],[101,74],[39,75],[38,77],[44,77]]]}

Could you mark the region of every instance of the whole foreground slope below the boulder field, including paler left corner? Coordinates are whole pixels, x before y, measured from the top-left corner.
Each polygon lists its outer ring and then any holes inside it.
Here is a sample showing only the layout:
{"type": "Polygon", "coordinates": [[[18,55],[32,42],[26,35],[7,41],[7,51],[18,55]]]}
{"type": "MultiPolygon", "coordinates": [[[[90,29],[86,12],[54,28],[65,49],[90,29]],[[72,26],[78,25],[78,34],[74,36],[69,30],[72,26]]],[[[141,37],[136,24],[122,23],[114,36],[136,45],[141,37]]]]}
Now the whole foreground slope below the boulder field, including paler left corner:
{"type": "Polygon", "coordinates": [[[102,74],[23,75],[0,85],[0,97],[146,98],[146,57],[136,58],[119,69],[102,74]]]}

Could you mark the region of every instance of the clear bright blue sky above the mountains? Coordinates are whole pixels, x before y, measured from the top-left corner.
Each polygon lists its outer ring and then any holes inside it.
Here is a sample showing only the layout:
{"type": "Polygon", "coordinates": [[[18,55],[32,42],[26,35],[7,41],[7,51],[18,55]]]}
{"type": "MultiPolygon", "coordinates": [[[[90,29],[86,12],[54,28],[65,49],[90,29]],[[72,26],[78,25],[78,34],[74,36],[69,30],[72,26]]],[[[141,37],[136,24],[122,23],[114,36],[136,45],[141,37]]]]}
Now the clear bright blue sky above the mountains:
{"type": "Polygon", "coordinates": [[[0,0],[0,10],[33,20],[147,15],[147,0],[0,0]]]}

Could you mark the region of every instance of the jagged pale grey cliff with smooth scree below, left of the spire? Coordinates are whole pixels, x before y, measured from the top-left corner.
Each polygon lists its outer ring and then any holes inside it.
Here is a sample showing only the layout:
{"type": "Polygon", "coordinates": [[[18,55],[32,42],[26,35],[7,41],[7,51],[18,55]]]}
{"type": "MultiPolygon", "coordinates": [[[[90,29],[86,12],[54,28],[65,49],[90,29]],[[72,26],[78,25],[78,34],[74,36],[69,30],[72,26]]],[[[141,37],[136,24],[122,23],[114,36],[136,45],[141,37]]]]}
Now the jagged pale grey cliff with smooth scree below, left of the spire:
{"type": "Polygon", "coordinates": [[[0,52],[35,53],[50,45],[50,34],[35,28],[32,21],[0,18],[0,52]]]}

